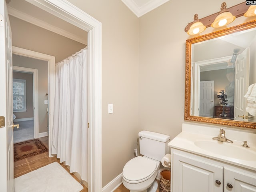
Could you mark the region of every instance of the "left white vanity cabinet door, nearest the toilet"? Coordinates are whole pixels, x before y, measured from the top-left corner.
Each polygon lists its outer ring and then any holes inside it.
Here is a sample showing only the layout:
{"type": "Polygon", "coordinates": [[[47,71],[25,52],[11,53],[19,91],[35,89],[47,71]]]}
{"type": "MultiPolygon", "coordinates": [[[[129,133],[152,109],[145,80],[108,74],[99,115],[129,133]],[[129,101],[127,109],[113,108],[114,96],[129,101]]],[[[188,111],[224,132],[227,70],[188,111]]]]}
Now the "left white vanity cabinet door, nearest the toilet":
{"type": "Polygon", "coordinates": [[[171,191],[223,192],[223,169],[206,158],[174,150],[171,191]]]}

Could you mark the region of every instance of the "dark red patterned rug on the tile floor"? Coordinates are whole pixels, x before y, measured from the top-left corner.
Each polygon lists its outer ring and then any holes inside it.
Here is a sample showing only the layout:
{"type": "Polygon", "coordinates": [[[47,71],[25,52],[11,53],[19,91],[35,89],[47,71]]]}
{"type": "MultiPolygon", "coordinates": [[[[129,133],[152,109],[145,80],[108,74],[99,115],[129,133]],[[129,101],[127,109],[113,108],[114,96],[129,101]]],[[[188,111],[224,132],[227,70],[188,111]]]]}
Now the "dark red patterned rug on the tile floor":
{"type": "Polygon", "coordinates": [[[40,153],[48,152],[48,148],[40,139],[33,139],[14,144],[14,161],[32,157],[40,153]]]}

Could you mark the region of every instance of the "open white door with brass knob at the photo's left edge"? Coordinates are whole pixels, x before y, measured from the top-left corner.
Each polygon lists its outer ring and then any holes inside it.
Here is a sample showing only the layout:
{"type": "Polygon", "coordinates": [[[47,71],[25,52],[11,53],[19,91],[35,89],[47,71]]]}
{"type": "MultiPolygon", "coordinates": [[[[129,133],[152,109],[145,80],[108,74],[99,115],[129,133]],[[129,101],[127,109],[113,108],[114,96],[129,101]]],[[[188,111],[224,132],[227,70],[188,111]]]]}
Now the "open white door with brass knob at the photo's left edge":
{"type": "Polygon", "coordinates": [[[13,192],[12,34],[5,0],[0,18],[0,191],[13,192]]]}

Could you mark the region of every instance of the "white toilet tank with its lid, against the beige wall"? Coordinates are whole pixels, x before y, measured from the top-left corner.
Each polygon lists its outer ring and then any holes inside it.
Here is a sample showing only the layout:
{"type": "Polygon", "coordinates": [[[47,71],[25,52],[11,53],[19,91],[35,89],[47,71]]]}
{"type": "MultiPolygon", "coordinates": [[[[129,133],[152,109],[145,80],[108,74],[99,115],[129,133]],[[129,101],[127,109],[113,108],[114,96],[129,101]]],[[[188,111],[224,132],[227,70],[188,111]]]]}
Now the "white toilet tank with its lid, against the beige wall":
{"type": "Polygon", "coordinates": [[[169,151],[167,146],[169,140],[170,136],[168,135],[141,131],[139,132],[140,154],[161,161],[169,151]]]}

